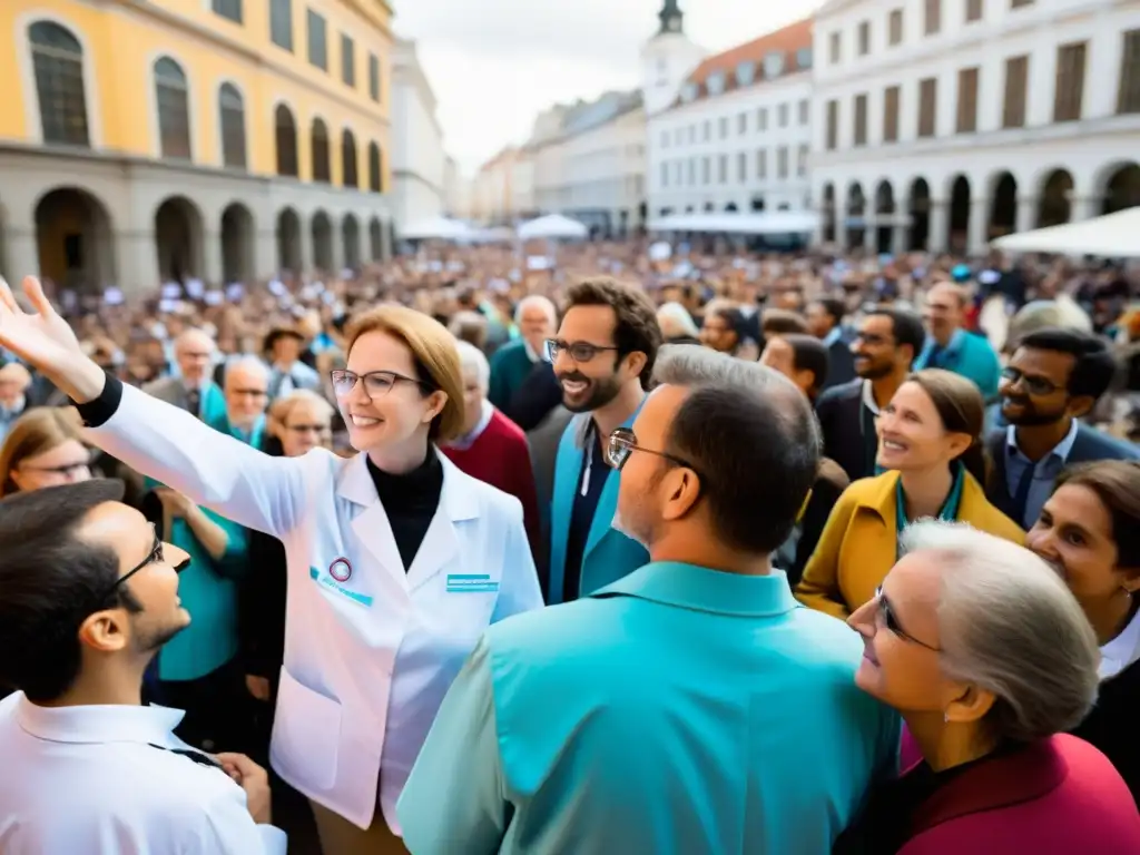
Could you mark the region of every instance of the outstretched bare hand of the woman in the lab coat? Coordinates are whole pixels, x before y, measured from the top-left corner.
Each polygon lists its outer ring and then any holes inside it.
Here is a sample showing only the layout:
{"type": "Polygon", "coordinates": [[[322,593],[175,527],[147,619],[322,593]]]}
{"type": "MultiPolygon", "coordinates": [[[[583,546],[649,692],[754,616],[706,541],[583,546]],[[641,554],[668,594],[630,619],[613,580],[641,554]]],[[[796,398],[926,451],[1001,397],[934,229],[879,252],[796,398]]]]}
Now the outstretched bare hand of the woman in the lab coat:
{"type": "Polygon", "coordinates": [[[103,389],[103,372],[83,356],[75,333],[51,307],[34,276],[24,277],[24,296],[32,311],[16,302],[8,283],[0,277],[0,347],[38,368],[73,398],[97,397],[103,389]]]}

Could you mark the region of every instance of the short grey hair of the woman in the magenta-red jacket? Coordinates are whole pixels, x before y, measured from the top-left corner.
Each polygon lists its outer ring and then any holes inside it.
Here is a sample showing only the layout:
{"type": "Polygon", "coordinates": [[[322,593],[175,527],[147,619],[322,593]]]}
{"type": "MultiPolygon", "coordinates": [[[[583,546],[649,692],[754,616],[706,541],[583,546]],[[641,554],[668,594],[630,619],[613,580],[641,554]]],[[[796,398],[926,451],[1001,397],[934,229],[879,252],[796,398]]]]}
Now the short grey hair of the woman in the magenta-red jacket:
{"type": "Polygon", "coordinates": [[[1061,578],[1010,540],[961,522],[922,520],[904,553],[930,553],[944,572],[938,603],[943,669],[993,692],[986,724],[999,740],[1070,731],[1097,699],[1097,635],[1061,578]]]}

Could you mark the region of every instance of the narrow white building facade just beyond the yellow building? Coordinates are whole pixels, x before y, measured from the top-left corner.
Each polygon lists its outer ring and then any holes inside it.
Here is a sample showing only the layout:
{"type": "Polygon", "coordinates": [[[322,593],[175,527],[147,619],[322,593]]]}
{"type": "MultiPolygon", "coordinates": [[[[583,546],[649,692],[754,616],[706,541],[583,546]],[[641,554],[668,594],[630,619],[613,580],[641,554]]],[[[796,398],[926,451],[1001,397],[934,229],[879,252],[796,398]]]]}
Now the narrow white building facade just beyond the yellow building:
{"type": "Polygon", "coordinates": [[[435,95],[413,41],[392,54],[392,207],[397,227],[439,217],[447,209],[448,174],[435,95]]]}

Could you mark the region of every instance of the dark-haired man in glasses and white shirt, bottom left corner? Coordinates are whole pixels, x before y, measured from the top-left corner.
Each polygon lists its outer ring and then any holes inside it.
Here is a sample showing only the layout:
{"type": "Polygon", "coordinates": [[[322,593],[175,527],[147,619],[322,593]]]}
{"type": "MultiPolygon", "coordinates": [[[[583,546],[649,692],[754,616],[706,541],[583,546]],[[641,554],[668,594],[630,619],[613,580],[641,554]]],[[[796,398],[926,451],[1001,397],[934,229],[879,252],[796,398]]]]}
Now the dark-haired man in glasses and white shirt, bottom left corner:
{"type": "Polygon", "coordinates": [[[173,734],[142,675],[190,617],[186,553],[162,543],[119,481],[0,502],[0,852],[285,853],[264,769],[173,734]],[[10,820],[15,822],[10,822],[10,820]]]}

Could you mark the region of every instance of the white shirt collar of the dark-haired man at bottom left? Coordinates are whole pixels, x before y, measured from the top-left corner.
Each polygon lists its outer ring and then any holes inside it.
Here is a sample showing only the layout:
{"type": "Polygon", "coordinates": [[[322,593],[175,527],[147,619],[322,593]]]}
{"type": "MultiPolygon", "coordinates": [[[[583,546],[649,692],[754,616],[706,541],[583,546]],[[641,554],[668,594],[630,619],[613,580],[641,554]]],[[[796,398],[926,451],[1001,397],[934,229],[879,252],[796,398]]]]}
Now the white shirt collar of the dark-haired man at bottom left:
{"type": "Polygon", "coordinates": [[[171,732],[186,715],[179,709],[155,706],[40,707],[22,692],[15,703],[21,730],[49,742],[161,744],[170,741],[171,732]]]}

